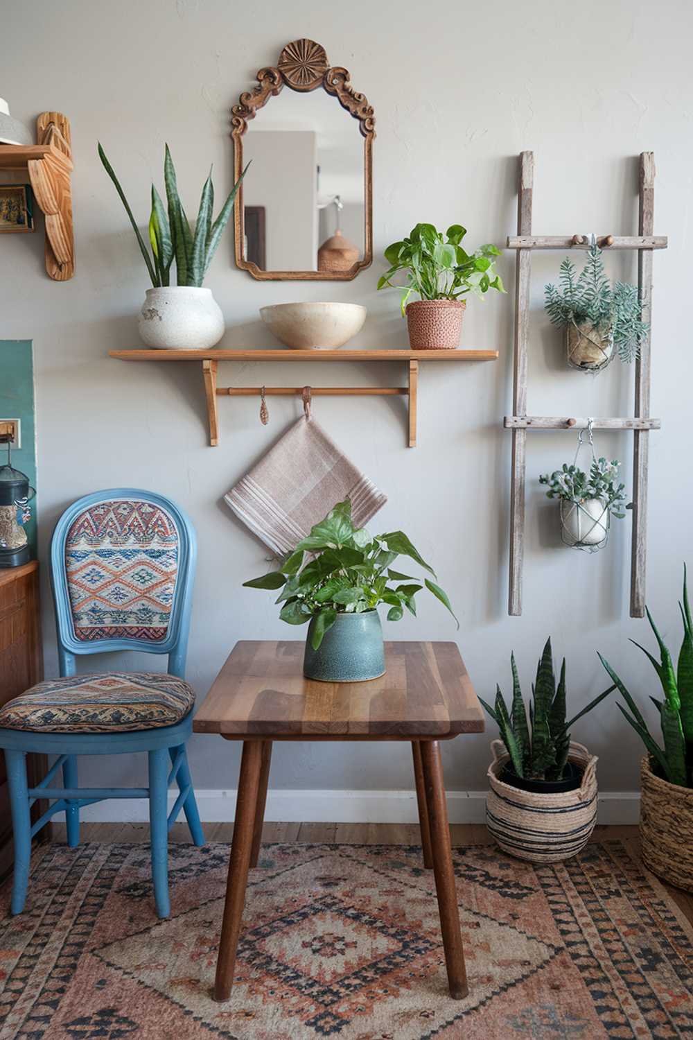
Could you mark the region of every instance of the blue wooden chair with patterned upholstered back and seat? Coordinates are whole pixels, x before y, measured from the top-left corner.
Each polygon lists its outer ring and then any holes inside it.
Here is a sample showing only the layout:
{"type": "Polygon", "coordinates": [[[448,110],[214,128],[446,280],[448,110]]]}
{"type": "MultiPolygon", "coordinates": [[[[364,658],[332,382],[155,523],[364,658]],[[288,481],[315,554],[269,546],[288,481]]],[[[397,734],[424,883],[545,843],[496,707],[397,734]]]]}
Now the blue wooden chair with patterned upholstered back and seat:
{"type": "Polygon", "coordinates": [[[169,915],[168,831],[181,809],[194,843],[205,843],[185,750],[194,705],[184,674],[195,555],[188,518],[149,491],[98,491],[58,520],[51,576],[61,678],[39,682],[0,708],[15,832],[14,914],[24,909],[31,838],[54,813],[64,811],[68,843],[75,848],[83,805],[149,798],[156,912],[169,915]],[[168,671],[76,674],[76,655],[111,650],[168,654],[168,671]],[[27,786],[32,751],[58,756],[36,787],[27,786]],[[149,787],[78,786],[78,755],[136,751],[149,755],[149,787]],[[60,769],[63,786],[50,787],[60,769]],[[167,813],[174,780],[180,794],[167,813]],[[37,799],[54,801],[32,826],[37,799]]]}

